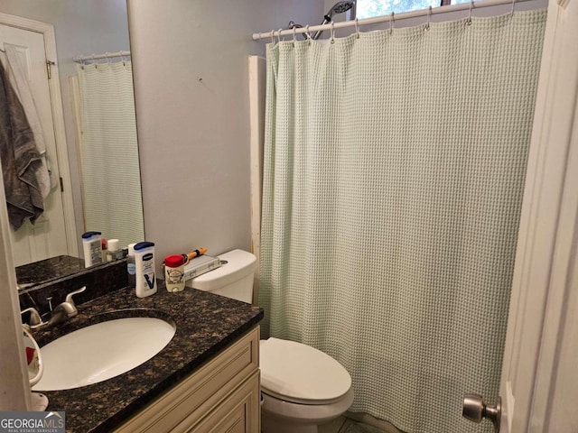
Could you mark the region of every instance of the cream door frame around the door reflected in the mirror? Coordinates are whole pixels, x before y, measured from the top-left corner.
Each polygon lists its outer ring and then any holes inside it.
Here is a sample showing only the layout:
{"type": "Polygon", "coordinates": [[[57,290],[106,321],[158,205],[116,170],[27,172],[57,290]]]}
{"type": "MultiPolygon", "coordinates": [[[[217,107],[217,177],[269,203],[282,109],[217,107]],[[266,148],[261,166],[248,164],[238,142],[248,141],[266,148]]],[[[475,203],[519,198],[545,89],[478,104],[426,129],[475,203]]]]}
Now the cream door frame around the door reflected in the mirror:
{"type": "Polygon", "coordinates": [[[54,140],[56,143],[57,160],[62,179],[62,211],[66,229],[66,243],[69,255],[79,256],[79,241],[76,231],[76,219],[74,216],[74,200],[72,198],[72,181],[70,178],[69,152],[66,141],[66,128],[64,125],[64,113],[62,110],[61,77],[58,69],[58,56],[56,52],[56,35],[54,26],[49,23],[30,20],[21,16],[0,13],[0,24],[9,25],[29,32],[42,33],[44,36],[44,51],[46,60],[53,61],[51,65],[51,78],[48,86],[51,96],[52,122],[54,124],[54,140]]]}

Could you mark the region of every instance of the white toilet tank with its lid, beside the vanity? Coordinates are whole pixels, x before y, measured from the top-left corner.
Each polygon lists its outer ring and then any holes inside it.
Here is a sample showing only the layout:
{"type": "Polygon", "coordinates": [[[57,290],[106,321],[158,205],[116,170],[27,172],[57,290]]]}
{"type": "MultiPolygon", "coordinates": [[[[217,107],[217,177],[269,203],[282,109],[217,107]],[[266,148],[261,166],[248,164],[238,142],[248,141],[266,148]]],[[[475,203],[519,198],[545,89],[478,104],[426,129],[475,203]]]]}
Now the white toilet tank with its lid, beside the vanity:
{"type": "Polygon", "coordinates": [[[218,257],[221,266],[193,278],[191,287],[250,304],[253,300],[256,256],[247,251],[233,250],[218,257]]]}

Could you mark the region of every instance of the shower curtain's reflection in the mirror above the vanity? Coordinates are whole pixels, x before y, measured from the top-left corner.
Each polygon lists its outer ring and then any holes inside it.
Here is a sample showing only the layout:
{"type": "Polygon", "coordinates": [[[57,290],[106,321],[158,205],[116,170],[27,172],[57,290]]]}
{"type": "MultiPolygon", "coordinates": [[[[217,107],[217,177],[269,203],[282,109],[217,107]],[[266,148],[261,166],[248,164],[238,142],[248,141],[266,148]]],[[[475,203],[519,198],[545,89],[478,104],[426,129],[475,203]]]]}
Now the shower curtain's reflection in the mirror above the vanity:
{"type": "Polygon", "coordinates": [[[80,161],[86,230],[144,240],[130,61],[78,65],[80,161]]]}

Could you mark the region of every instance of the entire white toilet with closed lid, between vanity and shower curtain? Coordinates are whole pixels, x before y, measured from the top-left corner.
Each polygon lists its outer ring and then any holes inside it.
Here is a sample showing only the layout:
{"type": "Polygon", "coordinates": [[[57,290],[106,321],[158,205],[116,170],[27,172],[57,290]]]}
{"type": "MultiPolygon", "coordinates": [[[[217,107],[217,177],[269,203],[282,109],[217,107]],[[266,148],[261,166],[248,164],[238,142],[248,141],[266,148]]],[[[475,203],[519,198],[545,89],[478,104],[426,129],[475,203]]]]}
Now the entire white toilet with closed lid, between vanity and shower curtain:
{"type": "MultiPolygon", "coordinates": [[[[191,286],[251,303],[255,255],[233,250],[219,259],[218,269],[192,279],[191,286]]],[[[350,373],[330,355],[273,337],[261,340],[259,348],[262,432],[316,433],[319,424],[350,408],[350,373]]]]}

